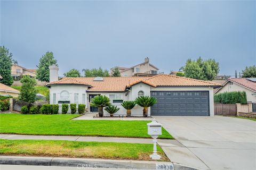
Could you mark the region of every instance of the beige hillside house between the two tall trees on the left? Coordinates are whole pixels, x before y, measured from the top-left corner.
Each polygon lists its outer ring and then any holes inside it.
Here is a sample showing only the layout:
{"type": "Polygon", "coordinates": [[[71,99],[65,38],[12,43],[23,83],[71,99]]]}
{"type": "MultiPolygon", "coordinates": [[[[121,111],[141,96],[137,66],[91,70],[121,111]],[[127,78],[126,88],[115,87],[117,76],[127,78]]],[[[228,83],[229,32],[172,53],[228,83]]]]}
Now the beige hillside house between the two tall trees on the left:
{"type": "Polygon", "coordinates": [[[12,64],[12,77],[21,77],[22,75],[29,75],[36,77],[36,69],[26,69],[18,64],[12,64]]]}

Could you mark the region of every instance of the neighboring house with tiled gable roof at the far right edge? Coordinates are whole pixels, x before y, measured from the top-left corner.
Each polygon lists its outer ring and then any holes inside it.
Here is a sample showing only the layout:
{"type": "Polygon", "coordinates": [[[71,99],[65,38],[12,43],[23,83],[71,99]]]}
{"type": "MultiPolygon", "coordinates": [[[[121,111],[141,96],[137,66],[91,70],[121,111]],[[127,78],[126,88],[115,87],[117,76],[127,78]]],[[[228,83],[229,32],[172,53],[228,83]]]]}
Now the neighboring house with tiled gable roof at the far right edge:
{"type": "Polygon", "coordinates": [[[229,78],[214,94],[245,91],[247,102],[256,102],[256,78],[229,78]]]}

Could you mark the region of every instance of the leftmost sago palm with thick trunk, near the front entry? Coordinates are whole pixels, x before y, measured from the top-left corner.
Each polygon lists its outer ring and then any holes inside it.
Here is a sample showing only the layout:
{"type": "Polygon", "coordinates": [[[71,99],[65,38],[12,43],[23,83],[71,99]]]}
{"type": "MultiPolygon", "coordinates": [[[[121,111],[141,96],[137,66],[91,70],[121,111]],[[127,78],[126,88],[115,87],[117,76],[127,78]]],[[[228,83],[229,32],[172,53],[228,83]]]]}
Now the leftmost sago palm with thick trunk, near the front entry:
{"type": "Polygon", "coordinates": [[[95,96],[91,101],[91,106],[98,107],[99,117],[103,117],[103,107],[109,106],[110,104],[110,99],[107,96],[95,96]]]}

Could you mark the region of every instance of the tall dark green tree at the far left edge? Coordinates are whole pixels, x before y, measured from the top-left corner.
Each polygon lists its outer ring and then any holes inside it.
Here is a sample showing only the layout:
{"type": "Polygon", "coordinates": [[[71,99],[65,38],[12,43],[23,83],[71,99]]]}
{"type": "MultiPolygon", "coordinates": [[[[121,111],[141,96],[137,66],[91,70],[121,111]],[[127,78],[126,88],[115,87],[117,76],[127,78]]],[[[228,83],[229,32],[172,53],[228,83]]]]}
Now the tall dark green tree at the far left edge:
{"type": "Polygon", "coordinates": [[[0,80],[1,83],[11,86],[12,79],[12,53],[9,53],[9,49],[4,46],[0,46],[0,75],[3,77],[0,80]]]}

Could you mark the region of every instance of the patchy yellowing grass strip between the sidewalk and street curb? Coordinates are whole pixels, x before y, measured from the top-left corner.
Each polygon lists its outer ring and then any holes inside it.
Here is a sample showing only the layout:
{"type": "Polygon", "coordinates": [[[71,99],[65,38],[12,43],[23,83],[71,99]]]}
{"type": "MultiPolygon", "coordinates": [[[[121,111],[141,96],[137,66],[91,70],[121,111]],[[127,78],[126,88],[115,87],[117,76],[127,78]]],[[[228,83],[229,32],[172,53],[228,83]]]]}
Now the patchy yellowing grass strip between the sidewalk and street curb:
{"type": "MultiPolygon", "coordinates": [[[[163,161],[169,161],[157,146],[163,161]]],[[[153,145],[115,142],[0,139],[1,155],[151,160],[153,145]]]]}

